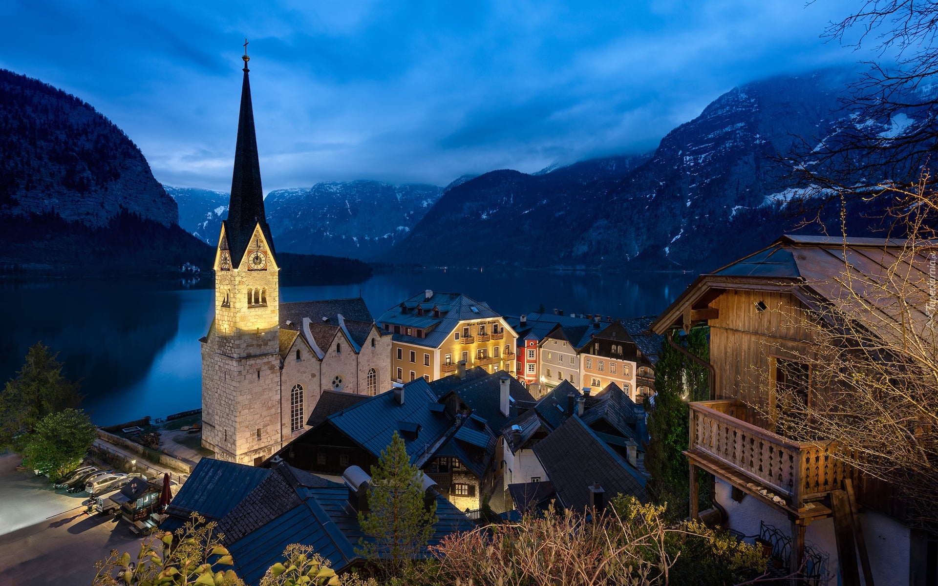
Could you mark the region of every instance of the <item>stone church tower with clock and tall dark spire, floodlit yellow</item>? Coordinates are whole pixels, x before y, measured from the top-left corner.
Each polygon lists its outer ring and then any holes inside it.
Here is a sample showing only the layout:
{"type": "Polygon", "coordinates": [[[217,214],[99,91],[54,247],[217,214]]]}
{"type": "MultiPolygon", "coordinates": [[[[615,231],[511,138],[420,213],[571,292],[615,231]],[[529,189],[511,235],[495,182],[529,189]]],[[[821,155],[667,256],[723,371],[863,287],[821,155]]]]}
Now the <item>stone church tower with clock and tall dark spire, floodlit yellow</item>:
{"type": "Polygon", "coordinates": [[[282,443],[280,268],[264,212],[247,51],[231,203],[215,255],[215,321],[202,338],[202,445],[257,463],[282,443]]]}

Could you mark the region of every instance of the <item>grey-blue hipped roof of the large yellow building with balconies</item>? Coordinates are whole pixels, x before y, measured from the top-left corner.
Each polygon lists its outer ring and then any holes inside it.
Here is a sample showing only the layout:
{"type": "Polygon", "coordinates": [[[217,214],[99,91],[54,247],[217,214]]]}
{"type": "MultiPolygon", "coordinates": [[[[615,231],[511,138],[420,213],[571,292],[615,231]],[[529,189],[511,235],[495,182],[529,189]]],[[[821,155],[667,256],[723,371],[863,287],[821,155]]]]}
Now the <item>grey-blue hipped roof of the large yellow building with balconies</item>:
{"type": "Polygon", "coordinates": [[[439,293],[432,292],[431,298],[426,298],[426,293],[417,293],[410,299],[401,304],[389,308],[377,323],[384,327],[385,323],[394,325],[403,325],[407,327],[420,328],[425,330],[424,338],[416,336],[405,336],[395,334],[394,339],[408,344],[416,344],[427,348],[438,348],[446,338],[448,338],[458,323],[463,320],[485,320],[501,317],[485,302],[479,302],[467,297],[462,293],[439,293]],[[404,313],[401,305],[408,308],[404,313]],[[416,307],[426,307],[430,311],[424,315],[416,314],[416,307]],[[434,318],[432,308],[440,308],[440,317],[434,318]],[[446,309],[445,312],[444,309],[446,309]]]}

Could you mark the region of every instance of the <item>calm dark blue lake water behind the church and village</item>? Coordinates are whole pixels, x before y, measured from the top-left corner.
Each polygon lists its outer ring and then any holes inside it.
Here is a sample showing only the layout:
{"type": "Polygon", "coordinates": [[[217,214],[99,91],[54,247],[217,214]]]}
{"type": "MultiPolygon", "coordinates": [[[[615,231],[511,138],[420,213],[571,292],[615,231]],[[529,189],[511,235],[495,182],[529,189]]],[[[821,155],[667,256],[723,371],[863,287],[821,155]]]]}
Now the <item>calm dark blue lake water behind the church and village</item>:
{"type": "MultiPolygon", "coordinates": [[[[354,285],[284,287],[282,301],[356,297],[377,319],[425,289],[460,292],[504,314],[548,311],[615,317],[655,315],[696,274],[398,271],[354,285]]],[[[0,381],[15,376],[38,340],[59,353],[68,378],[82,379],[83,406],[98,425],[161,417],[202,406],[199,338],[212,320],[214,291],[148,282],[88,279],[0,282],[7,309],[0,381]]]]}

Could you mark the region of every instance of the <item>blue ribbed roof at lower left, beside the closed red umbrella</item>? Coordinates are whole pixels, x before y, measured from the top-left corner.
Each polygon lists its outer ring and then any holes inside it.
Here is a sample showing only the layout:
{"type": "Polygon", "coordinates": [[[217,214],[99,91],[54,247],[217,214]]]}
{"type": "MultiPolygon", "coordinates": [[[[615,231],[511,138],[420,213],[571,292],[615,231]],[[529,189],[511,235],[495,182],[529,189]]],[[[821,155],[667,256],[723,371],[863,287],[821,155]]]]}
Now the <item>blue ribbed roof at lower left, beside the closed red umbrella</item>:
{"type": "Polygon", "coordinates": [[[261,484],[269,473],[266,468],[213,458],[200,459],[166,510],[169,518],[162,522],[160,528],[174,531],[189,520],[192,511],[198,511],[209,520],[219,520],[261,484]]]}

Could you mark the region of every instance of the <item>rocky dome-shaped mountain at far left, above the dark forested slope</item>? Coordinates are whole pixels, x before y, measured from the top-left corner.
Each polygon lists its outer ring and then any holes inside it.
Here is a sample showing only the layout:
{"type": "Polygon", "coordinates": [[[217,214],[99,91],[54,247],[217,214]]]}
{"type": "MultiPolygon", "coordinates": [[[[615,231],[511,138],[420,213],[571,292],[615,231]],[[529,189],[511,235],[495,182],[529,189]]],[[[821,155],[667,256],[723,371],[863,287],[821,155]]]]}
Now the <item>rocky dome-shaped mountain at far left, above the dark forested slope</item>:
{"type": "Polygon", "coordinates": [[[102,227],[122,213],[175,225],[143,153],[89,104],[0,69],[0,218],[54,213],[102,227]]]}

